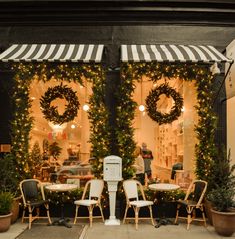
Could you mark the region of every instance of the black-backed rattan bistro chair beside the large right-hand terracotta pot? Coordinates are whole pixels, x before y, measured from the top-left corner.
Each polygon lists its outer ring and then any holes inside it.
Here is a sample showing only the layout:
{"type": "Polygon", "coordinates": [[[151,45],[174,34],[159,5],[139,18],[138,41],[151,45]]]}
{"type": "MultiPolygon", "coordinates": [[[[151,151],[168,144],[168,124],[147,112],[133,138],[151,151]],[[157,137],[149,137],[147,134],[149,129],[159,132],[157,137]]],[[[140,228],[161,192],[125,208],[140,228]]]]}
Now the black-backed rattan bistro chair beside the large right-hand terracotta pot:
{"type": "Polygon", "coordinates": [[[179,200],[177,204],[175,223],[178,218],[187,219],[187,230],[190,223],[195,221],[203,221],[206,226],[206,217],[204,213],[203,199],[207,189],[207,182],[203,180],[194,180],[187,190],[184,200],[179,200]],[[181,207],[186,208],[187,217],[179,216],[179,210],[181,207]],[[199,209],[202,213],[202,218],[196,217],[196,209],[199,209]]]}

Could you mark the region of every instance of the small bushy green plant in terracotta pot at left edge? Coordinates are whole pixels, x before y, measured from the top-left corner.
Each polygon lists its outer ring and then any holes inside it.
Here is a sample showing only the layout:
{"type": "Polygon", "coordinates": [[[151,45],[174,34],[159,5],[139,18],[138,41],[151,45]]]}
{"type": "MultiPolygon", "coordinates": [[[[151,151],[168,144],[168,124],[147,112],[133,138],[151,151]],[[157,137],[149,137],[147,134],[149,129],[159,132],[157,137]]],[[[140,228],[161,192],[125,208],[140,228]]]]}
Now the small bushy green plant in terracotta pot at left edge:
{"type": "Polygon", "coordinates": [[[11,207],[13,195],[10,192],[0,192],[0,232],[5,232],[11,225],[11,207]]]}

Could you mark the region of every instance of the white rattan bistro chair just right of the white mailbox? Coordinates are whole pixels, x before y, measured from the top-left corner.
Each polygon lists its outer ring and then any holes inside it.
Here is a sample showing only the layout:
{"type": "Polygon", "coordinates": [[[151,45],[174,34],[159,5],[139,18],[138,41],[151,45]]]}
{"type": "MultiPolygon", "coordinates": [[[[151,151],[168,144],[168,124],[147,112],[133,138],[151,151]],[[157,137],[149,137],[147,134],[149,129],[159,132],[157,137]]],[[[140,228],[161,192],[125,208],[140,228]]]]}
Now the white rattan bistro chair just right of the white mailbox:
{"type": "Polygon", "coordinates": [[[153,213],[152,213],[153,202],[146,200],[143,186],[141,185],[141,183],[134,179],[128,179],[128,180],[123,181],[123,188],[124,188],[124,192],[126,195],[126,210],[125,210],[125,214],[124,214],[124,218],[123,218],[123,223],[125,223],[126,219],[133,219],[131,217],[127,218],[127,211],[129,208],[132,207],[135,212],[134,219],[135,219],[135,228],[136,229],[138,229],[139,219],[151,219],[152,224],[154,225],[153,213]],[[138,188],[140,189],[142,199],[139,199],[138,188]],[[142,207],[149,208],[150,217],[139,218],[139,210],[142,207]]]}

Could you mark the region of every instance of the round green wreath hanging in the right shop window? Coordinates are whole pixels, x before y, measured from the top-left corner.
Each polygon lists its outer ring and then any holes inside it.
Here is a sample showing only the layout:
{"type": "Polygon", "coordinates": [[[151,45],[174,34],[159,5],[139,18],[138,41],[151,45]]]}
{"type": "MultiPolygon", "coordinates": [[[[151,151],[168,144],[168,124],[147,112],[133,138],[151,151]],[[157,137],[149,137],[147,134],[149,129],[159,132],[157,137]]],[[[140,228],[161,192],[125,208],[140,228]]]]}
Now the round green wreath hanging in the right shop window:
{"type": "Polygon", "coordinates": [[[168,84],[161,84],[157,88],[151,90],[145,102],[149,117],[158,122],[159,125],[169,124],[176,120],[180,116],[183,107],[183,98],[168,84]],[[174,106],[172,106],[170,112],[167,114],[157,111],[157,102],[159,101],[161,94],[165,94],[167,97],[172,97],[175,101],[174,106]]]}

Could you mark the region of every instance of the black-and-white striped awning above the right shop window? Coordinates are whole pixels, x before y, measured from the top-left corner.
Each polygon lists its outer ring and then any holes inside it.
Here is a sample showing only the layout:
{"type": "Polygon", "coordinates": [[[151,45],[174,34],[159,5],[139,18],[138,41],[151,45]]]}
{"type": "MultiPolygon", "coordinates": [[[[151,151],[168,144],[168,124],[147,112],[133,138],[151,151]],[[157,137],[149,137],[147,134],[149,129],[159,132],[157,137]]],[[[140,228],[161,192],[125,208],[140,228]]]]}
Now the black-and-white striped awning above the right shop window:
{"type": "Polygon", "coordinates": [[[122,62],[230,62],[213,46],[204,45],[121,45],[122,62]]]}

